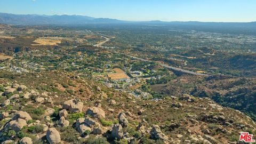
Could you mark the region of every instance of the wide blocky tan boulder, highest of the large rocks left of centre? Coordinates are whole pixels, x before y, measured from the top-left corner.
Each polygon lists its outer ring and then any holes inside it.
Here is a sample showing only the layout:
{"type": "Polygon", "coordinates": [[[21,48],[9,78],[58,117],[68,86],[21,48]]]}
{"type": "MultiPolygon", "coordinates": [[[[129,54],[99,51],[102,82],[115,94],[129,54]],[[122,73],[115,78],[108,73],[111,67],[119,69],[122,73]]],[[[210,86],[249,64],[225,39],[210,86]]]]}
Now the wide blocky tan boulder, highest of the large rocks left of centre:
{"type": "Polygon", "coordinates": [[[68,101],[65,101],[62,105],[63,109],[67,109],[71,111],[72,113],[79,113],[83,110],[83,102],[81,102],[79,99],[71,99],[68,101]]]}

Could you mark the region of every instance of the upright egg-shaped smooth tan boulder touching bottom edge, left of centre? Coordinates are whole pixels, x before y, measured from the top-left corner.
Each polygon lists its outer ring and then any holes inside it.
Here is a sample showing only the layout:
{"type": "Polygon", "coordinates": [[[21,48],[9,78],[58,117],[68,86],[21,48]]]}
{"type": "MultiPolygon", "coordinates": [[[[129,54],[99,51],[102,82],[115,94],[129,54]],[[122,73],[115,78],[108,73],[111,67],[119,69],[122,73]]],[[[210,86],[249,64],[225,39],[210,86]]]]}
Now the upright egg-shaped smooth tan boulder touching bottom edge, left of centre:
{"type": "Polygon", "coordinates": [[[46,138],[50,144],[57,144],[61,141],[60,133],[53,127],[46,132],[46,138]]]}

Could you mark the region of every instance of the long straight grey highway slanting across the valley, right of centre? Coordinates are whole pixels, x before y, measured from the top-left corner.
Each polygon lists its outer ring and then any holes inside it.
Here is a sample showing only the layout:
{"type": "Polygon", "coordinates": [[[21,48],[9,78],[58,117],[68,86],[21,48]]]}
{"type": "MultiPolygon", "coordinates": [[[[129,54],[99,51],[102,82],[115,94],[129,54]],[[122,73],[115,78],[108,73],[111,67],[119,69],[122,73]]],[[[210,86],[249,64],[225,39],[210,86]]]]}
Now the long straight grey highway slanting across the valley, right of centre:
{"type": "MultiPolygon", "coordinates": [[[[116,52],[116,51],[113,51],[113,52],[119,53],[119,52],[116,52]]],[[[119,54],[124,54],[124,53],[119,53],[119,54]]],[[[185,69],[181,69],[181,68],[176,68],[176,67],[168,66],[168,65],[165,65],[165,64],[163,64],[163,63],[161,63],[161,62],[157,62],[157,61],[141,59],[141,58],[134,57],[134,56],[128,55],[128,54],[124,54],[124,55],[126,55],[127,57],[131,57],[131,58],[133,58],[133,59],[141,60],[141,61],[156,62],[156,63],[158,63],[159,65],[161,65],[161,66],[163,66],[163,67],[165,67],[165,68],[169,68],[169,69],[172,69],[172,70],[180,71],[180,72],[186,73],[186,74],[198,75],[198,76],[209,76],[209,75],[206,75],[206,74],[196,73],[196,72],[194,72],[194,71],[189,71],[189,70],[185,70],[185,69]]]]}

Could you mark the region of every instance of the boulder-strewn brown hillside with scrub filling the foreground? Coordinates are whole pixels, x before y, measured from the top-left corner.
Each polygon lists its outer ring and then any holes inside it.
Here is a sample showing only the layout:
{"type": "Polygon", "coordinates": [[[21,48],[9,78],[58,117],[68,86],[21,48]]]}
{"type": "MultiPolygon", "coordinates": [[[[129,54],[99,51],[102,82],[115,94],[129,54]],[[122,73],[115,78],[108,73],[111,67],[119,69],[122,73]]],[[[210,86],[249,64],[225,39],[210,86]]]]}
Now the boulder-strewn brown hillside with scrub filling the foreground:
{"type": "Polygon", "coordinates": [[[0,82],[2,143],[237,143],[255,133],[250,117],[209,98],[142,100],[57,71],[0,82]]]}

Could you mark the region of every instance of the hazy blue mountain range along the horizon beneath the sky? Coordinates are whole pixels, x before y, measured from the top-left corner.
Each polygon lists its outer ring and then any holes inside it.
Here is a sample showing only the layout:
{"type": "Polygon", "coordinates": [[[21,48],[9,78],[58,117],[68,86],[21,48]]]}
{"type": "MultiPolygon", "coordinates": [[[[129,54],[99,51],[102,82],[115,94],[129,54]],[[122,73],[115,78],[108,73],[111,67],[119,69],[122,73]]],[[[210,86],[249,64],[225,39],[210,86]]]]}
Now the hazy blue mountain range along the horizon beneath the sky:
{"type": "MultiPolygon", "coordinates": [[[[5,24],[23,24],[23,25],[38,25],[38,24],[85,24],[85,23],[143,23],[143,24],[169,24],[169,25],[241,25],[241,22],[164,22],[164,21],[122,21],[108,18],[93,18],[83,15],[39,15],[39,14],[10,14],[0,13],[0,23],[5,24]]],[[[256,26],[256,22],[244,22],[246,25],[256,26]]]]}

